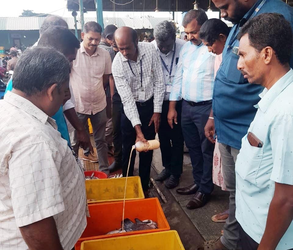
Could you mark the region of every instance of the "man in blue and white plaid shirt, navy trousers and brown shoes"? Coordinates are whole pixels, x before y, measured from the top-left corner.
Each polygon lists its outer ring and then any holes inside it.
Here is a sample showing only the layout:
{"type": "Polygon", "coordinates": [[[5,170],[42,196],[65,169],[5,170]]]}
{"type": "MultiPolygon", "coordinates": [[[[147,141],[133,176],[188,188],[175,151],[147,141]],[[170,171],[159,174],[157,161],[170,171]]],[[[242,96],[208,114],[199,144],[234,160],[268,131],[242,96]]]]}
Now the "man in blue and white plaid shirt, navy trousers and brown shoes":
{"type": "Polygon", "coordinates": [[[204,135],[204,126],[212,108],[215,55],[203,45],[199,30],[208,20],[203,9],[190,10],[183,19],[184,31],[190,42],[183,45],[172,84],[168,123],[177,124],[176,102],[182,101],[181,126],[189,149],[194,183],[176,191],[181,195],[195,194],[186,205],[189,209],[203,206],[214,189],[212,161],[214,144],[204,135]]]}

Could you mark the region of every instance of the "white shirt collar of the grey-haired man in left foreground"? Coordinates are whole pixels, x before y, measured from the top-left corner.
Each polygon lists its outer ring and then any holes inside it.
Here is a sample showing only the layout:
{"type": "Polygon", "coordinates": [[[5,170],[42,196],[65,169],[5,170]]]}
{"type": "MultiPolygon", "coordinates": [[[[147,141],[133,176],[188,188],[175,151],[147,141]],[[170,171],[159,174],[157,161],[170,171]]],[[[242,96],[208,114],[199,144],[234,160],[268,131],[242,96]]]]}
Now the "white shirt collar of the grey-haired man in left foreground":
{"type": "Polygon", "coordinates": [[[23,98],[22,96],[8,91],[4,96],[4,101],[10,103],[13,106],[16,106],[19,109],[24,110],[25,112],[34,116],[44,124],[48,121],[52,125],[52,127],[54,127],[57,130],[56,122],[54,119],[49,117],[41,109],[35,106],[32,102],[23,98]]]}

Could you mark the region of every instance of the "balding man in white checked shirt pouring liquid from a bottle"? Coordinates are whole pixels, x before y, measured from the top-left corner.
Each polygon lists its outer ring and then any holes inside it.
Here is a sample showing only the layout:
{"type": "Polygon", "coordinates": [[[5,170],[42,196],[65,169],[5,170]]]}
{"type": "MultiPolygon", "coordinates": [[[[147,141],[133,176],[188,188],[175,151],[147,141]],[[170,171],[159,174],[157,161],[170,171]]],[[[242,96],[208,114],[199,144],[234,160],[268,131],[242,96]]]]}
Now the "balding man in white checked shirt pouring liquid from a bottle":
{"type": "MultiPolygon", "coordinates": [[[[165,94],[161,59],[154,45],[139,43],[136,31],[121,27],[114,33],[120,51],[113,61],[112,74],[123,103],[121,116],[123,140],[123,176],[126,176],[132,145],[154,140],[159,130],[165,94]]],[[[133,175],[136,152],[133,151],[129,176],[133,175]]],[[[139,154],[139,176],[148,190],[153,151],[139,154]]]]}

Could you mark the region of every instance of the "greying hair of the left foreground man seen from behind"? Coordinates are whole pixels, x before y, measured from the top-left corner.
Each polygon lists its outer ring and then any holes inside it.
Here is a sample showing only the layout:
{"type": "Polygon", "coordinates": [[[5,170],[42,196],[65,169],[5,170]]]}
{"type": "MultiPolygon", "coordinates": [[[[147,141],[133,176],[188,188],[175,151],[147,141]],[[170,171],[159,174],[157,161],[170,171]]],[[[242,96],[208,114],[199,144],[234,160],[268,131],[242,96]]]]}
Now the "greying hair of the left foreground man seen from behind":
{"type": "Polygon", "coordinates": [[[71,66],[67,58],[52,47],[28,48],[16,63],[13,88],[36,95],[53,84],[61,88],[69,80],[71,66]]]}

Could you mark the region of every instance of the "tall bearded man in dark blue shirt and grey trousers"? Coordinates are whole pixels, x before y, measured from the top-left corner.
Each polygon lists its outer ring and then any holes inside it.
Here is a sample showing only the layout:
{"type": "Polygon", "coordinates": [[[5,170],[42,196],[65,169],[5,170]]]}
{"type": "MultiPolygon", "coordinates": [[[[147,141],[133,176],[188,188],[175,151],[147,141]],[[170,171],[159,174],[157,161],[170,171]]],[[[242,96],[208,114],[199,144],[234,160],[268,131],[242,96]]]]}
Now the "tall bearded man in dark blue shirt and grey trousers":
{"type": "MultiPolygon", "coordinates": [[[[220,240],[208,242],[207,249],[241,249],[240,227],[235,219],[235,162],[241,148],[241,139],[247,133],[256,113],[253,105],[259,102],[259,94],[263,88],[249,84],[237,70],[239,58],[237,34],[247,20],[266,12],[280,13],[292,25],[293,9],[281,0],[212,1],[221,10],[221,17],[231,21],[234,26],[227,38],[222,63],[215,78],[213,109],[211,118],[205,126],[205,134],[210,141],[214,142],[214,131],[218,138],[223,177],[230,192],[229,217],[224,226],[224,235],[220,240]]],[[[292,62],[291,58],[291,66],[292,62]]]]}

